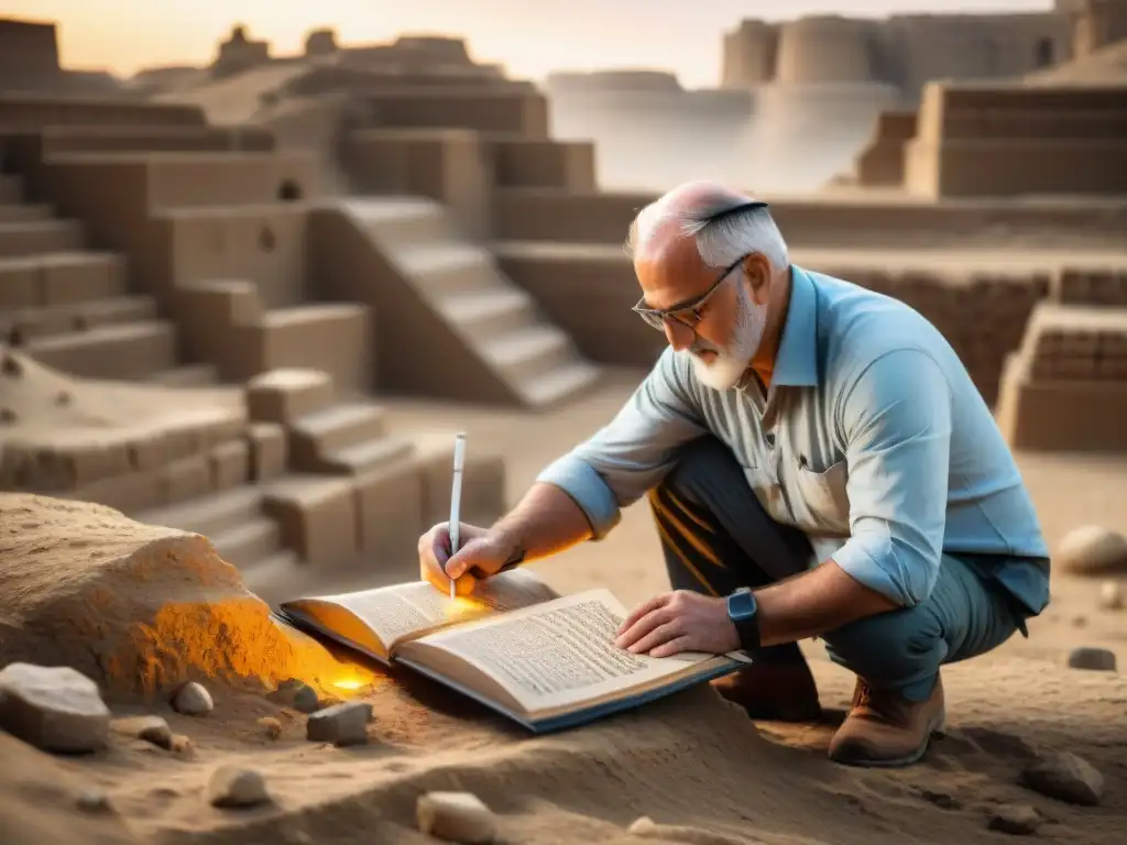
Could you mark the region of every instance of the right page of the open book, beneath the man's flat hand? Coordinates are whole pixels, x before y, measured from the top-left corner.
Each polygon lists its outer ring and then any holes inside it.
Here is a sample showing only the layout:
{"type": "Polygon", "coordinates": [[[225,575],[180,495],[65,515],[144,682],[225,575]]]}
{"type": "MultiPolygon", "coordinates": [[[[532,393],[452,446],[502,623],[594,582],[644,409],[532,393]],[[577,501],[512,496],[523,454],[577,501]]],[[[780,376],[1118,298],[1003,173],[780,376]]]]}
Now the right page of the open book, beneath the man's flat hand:
{"type": "Polygon", "coordinates": [[[627,611],[605,589],[588,590],[418,640],[471,664],[526,711],[566,708],[641,686],[713,655],[632,655],[614,646],[627,611]]]}

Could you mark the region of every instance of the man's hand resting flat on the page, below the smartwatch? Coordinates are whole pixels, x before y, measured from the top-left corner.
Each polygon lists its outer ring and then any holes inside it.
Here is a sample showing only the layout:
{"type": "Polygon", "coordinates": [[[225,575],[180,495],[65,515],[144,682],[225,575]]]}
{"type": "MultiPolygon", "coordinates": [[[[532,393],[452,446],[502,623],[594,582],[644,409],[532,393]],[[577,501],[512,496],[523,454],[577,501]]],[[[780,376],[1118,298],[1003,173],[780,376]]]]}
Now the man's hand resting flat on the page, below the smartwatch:
{"type": "Polygon", "coordinates": [[[739,648],[739,633],[725,599],[678,589],[655,596],[627,616],[614,644],[650,657],[681,651],[722,655],[739,648]]]}

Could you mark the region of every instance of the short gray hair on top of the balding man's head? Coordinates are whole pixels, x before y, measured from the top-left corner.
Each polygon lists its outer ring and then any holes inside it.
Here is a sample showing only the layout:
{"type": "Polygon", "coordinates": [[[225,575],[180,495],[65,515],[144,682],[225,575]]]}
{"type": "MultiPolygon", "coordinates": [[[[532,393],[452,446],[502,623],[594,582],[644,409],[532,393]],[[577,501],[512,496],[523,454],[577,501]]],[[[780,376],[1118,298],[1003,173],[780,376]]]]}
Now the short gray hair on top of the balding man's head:
{"type": "Polygon", "coordinates": [[[696,241],[696,252],[708,267],[728,267],[751,252],[761,254],[775,269],[790,264],[787,241],[771,212],[730,197],[692,211],[669,210],[660,201],[650,203],[630,223],[627,254],[632,257],[640,241],[671,223],[678,224],[682,237],[696,241]]]}

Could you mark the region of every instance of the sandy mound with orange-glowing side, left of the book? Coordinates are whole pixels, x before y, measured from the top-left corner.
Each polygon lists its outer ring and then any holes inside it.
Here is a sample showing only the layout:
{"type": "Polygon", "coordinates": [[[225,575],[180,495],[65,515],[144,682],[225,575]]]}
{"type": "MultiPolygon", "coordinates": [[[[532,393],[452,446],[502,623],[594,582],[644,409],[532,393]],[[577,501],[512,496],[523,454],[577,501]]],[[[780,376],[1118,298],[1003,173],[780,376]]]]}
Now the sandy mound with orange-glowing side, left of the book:
{"type": "Polygon", "coordinates": [[[186,679],[274,686],[345,671],[276,625],[206,537],[99,505],[0,495],[0,665],[72,666],[110,700],[186,679]]]}

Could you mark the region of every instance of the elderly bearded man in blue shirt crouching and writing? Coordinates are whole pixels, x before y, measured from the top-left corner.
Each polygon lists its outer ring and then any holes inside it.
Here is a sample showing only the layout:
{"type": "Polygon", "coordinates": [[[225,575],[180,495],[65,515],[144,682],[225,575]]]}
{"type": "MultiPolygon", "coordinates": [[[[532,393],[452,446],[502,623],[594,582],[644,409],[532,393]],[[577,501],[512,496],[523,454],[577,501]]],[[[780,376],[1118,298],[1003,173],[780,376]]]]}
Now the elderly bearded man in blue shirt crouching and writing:
{"type": "Polygon", "coordinates": [[[858,676],[832,759],[906,765],[944,719],[940,667],[1048,603],[1037,516],[990,408],[943,337],[896,300],[790,263],[764,203],[681,186],[629,247],[635,311],[667,348],[604,428],[491,528],[419,542],[462,592],[615,525],[648,495],[674,590],[624,621],[638,653],[743,648],[715,682],[753,718],[819,713],[797,646],[858,676]],[[749,589],[748,589],[749,588],[749,589]]]}

